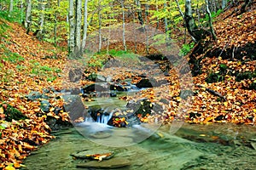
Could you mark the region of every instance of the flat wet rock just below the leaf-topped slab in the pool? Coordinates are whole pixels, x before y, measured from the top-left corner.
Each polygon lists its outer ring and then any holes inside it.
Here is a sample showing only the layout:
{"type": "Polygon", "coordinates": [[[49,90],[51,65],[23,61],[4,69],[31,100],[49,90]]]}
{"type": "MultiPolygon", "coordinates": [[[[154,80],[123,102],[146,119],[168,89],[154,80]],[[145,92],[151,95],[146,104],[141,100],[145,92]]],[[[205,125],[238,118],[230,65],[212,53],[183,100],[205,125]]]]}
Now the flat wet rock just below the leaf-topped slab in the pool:
{"type": "Polygon", "coordinates": [[[85,167],[85,168],[119,168],[119,167],[127,167],[131,165],[131,161],[125,158],[112,158],[107,161],[89,161],[85,163],[80,163],[77,167],[85,167]]]}

